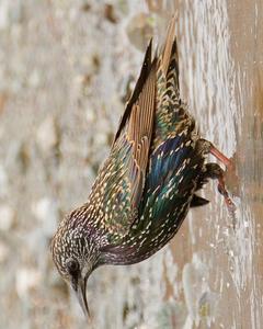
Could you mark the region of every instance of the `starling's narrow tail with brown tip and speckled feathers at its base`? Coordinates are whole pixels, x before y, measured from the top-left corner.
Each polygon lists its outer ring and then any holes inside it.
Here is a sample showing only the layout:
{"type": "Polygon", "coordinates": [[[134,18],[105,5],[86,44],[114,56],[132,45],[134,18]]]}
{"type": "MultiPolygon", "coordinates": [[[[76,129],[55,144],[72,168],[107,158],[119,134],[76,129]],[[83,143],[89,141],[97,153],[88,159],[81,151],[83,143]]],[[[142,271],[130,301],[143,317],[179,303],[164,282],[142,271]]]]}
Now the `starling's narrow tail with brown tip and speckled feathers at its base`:
{"type": "Polygon", "coordinates": [[[158,148],[168,138],[173,138],[181,132],[191,134],[194,129],[194,120],[180,97],[175,22],[175,16],[173,16],[162,52],[158,57],[157,107],[152,149],[158,148]]]}

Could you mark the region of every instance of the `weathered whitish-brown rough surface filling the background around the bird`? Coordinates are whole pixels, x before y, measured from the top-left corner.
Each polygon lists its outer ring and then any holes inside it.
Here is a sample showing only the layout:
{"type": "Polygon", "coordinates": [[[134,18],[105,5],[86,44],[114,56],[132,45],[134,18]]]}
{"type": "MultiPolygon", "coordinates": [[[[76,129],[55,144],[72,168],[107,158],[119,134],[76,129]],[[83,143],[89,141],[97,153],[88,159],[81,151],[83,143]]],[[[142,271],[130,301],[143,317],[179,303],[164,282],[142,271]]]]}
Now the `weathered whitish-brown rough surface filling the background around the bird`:
{"type": "Polygon", "coordinates": [[[96,329],[262,328],[261,0],[0,1],[0,327],[91,328],[49,254],[105,159],[147,41],[178,14],[181,88],[237,166],[169,247],[91,276],[96,329]]]}

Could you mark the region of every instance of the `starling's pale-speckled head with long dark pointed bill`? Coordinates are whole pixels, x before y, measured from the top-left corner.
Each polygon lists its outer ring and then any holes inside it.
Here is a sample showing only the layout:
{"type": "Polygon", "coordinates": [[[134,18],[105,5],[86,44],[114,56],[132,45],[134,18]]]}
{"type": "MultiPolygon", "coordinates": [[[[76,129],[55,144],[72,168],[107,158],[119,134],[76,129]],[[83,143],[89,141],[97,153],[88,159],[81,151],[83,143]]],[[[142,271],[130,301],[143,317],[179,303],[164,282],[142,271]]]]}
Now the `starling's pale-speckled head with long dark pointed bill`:
{"type": "Polygon", "coordinates": [[[91,272],[98,266],[99,251],[89,230],[81,222],[67,216],[52,241],[53,260],[62,279],[72,287],[85,316],[90,316],[85,287],[91,272]]]}

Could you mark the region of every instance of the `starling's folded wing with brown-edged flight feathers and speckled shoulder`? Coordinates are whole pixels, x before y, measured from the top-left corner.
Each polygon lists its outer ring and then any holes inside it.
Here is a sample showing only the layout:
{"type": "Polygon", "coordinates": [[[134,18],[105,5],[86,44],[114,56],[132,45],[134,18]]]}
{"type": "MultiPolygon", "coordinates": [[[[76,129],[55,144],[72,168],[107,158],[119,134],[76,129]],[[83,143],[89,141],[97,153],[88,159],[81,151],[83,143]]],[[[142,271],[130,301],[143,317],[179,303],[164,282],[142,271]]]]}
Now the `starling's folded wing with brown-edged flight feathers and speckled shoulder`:
{"type": "Polygon", "coordinates": [[[100,194],[100,227],[116,239],[123,237],[136,219],[144,191],[156,107],[156,67],[150,42],[110,157],[95,183],[98,189],[93,189],[93,194],[100,194]]]}

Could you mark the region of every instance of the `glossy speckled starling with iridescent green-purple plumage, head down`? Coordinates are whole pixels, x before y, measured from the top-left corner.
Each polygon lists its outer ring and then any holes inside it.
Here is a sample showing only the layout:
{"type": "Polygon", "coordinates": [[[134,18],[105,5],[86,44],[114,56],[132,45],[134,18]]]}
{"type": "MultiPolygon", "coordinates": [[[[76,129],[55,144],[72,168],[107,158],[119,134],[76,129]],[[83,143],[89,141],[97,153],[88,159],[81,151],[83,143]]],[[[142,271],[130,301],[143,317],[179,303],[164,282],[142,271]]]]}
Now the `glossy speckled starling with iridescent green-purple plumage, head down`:
{"type": "Polygon", "coordinates": [[[175,19],[160,55],[151,42],[134,92],[121,118],[108,158],[88,202],[67,215],[52,242],[54,262],[89,314],[85,286],[103,264],[138,263],[176,234],[190,207],[208,203],[196,194],[208,179],[233,204],[224,171],[206,163],[210,152],[230,164],[201,138],[195,120],[180,98],[175,19]]]}

